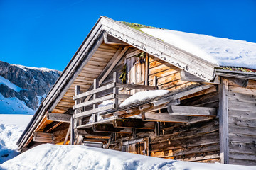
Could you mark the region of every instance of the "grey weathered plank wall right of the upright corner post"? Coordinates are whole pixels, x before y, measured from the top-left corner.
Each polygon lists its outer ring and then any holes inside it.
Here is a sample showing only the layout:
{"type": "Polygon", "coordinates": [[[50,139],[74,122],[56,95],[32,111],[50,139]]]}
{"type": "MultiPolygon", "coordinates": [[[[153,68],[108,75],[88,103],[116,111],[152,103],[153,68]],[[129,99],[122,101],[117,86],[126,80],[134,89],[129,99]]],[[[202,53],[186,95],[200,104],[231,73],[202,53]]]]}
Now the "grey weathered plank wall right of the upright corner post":
{"type": "Polygon", "coordinates": [[[228,84],[229,163],[256,165],[256,81],[228,84]]]}

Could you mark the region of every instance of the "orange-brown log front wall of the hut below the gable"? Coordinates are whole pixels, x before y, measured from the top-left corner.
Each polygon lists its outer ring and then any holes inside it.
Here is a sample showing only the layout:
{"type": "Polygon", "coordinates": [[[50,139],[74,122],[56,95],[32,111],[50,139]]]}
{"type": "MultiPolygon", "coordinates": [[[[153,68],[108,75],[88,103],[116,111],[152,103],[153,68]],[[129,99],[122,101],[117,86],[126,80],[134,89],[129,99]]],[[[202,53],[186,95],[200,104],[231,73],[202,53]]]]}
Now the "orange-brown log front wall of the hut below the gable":
{"type": "MultiPolygon", "coordinates": [[[[193,84],[181,81],[180,72],[181,69],[171,64],[155,57],[150,56],[149,58],[149,85],[153,85],[155,79],[159,89],[174,90],[193,84]]],[[[184,106],[217,108],[218,88],[213,86],[210,89],[182,99],[181,105],[184,106]]],[[[161,112],[165,111],[162,110],[161,112]]],[[[156,136],[154,130],[137,130],[137,137],[117,135],[117,140],[111,143],[110,149],[122,150],[122,142],[124,141],[150,137],[149,155],[152,157],[193,162],[219,162],[218,118],[205,118],[193,123],[162,122],[159,124],[159,136],[156,136]]],[[[126,145],[126,147],[129,146],[126,145]]]]}

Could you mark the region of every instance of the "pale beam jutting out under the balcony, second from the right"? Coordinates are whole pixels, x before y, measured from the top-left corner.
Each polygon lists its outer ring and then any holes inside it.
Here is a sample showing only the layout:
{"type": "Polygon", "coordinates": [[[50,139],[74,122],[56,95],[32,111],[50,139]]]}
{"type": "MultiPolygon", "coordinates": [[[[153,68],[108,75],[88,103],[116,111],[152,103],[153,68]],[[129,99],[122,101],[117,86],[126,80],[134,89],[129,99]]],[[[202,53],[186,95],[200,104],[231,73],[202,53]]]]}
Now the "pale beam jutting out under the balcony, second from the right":
{"type": "Polygon", "coordinates": [[[169,113],[142,113],[143,121],[153,122],[175,122],[175,123],[188,123],[188,117],[183,115],[169,115],[169,113]]]}

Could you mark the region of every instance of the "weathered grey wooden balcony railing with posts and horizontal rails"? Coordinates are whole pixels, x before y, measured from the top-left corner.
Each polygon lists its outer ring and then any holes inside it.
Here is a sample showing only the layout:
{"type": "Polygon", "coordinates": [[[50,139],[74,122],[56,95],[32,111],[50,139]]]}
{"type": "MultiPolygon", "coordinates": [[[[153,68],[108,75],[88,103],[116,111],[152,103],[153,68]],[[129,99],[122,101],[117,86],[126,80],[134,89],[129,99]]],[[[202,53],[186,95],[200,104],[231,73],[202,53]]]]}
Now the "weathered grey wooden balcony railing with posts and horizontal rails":
{"type": "Polygon", "coordinates": [[[145,86],[139,84],[122,84],[117,82],[117,73],[113,73],[113,82],[111,84],[107,84],[106,86],[98,87],[97,79],[94,80],[93,89],[90,91],[86,91],[84,93],[80,93],[80,86],[75,86],[75,96],[73,96],[73,100],[75,100],[75,105],[73,106],[73,110],[75,110],[75,114],[73,118],[80,120],[79,125],[82,124],[81,118],[88,117],[94,115],[94,121],[97,122],[98,113],[102,113],[105,111],[109,111],[113,108],[119,107],[119,98],[129,98],[129,94],[119,94],[119,88],[124,89],[144,89],[144,90],[155,90],[156,86],[145,86]],[[112,94],[108,94],[107,96],[98,97],[97,94],[100,94],[103,91],[107,91],[112,89],[112,94]],[[89,97],[88,97],[89,96],[89,97]],[[85,98],[92,98],[90,101],[86,101],[85,98]],[[102,103],[106,100],[112,100],[113,104],[103,107],[98,107],[98,104],[102,103]]]}

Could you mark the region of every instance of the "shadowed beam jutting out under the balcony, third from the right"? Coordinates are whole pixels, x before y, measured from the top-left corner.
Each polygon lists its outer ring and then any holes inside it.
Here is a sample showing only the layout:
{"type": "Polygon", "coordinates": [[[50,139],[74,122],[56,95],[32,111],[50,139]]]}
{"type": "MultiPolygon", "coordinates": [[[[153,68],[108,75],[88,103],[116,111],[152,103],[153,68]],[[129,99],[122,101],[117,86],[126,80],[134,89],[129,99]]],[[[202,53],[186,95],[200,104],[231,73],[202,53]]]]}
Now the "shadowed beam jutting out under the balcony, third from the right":
{"type": "Polygon", "coordinates": [[[154,129],[154,123],[144,122],[139,119],[113,120],[114,128],[154,129]]]}

